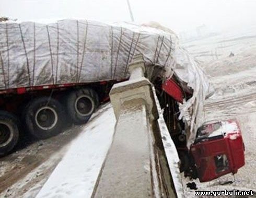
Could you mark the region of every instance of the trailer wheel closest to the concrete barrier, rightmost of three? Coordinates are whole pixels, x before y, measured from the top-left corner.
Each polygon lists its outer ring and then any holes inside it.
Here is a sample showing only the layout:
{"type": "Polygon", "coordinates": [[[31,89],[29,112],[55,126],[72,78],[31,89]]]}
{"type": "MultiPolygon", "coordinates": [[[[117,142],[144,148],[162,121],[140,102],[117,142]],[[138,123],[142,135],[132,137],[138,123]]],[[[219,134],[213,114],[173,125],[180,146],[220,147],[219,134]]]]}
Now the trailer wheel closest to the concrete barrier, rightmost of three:
{"type": "Polygon", "coordinates": [[[93,89],[73,90],[67,96],[67,113],[75,124],[85,124],[97,106],[98,95],[93,89]]]}

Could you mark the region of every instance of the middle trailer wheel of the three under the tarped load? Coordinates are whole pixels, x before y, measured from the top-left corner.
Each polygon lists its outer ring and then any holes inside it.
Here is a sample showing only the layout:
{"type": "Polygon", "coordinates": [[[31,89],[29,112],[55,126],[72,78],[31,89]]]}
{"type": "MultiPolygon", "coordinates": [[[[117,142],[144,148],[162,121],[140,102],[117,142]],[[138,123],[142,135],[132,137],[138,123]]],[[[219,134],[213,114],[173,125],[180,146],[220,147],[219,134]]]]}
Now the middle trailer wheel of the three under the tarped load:
{"type": "Polygon", "coordinates": [[[57,100],[49,97],[34,99],[25,111],[27,129],[37,139],[46,139],[62,131],[64,110],[57,100]]]}

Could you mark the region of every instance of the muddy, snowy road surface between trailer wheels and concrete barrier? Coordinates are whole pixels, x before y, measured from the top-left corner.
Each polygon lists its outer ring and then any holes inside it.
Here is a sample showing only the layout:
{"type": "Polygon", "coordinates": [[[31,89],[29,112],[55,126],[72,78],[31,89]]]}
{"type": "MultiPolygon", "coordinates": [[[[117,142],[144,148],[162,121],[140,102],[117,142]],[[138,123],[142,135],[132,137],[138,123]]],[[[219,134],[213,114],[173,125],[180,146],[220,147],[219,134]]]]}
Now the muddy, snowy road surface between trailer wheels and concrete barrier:
{"type": "Polygon", "coordinates": [[[85,125],[69,126],[43,141],[22,142],[22,147],[0,161],[0,197],[36,197],[46,181],[38,197],[55,197],[57,191],[67,197],[71,190],[72,197],[90,196],[111,144],[114,124],[113,110],[107,103],[85,125]]]}

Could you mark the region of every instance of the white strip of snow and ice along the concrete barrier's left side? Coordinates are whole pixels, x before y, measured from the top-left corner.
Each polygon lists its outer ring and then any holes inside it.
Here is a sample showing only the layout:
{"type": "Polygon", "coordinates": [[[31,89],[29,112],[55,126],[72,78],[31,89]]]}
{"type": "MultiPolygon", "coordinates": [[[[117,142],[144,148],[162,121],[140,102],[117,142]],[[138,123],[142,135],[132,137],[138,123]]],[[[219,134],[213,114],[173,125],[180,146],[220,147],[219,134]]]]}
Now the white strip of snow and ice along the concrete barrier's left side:
{"type": "Polygon", "coordinates": [[[115,117],[111,104],[99,110],[95,117],[83,126],[83,132],[74,139],[37,198],[91,196],[112,143],[115,117]]]}

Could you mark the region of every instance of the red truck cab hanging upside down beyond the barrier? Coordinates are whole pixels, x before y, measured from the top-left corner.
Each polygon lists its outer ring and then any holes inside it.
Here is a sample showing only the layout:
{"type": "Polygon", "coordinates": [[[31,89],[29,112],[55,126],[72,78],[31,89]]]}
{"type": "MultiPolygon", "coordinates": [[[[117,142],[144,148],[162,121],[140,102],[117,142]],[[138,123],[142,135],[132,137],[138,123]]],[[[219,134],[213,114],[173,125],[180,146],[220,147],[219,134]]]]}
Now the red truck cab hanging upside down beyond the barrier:
{"type": "Polygon", "coordinates": [[[245,147],[240,127],[235,120],[205,124],[197,131],[190,148],[201,182],[227,173],[235,174],[245,165],[245,147]]]}

